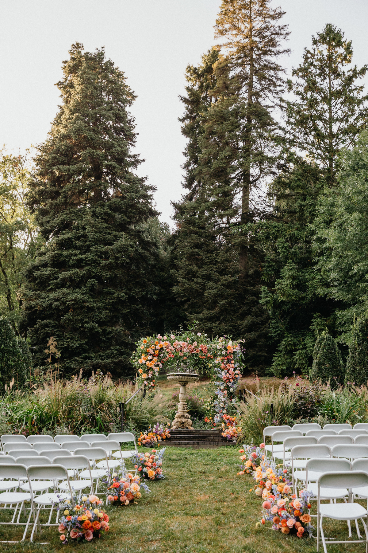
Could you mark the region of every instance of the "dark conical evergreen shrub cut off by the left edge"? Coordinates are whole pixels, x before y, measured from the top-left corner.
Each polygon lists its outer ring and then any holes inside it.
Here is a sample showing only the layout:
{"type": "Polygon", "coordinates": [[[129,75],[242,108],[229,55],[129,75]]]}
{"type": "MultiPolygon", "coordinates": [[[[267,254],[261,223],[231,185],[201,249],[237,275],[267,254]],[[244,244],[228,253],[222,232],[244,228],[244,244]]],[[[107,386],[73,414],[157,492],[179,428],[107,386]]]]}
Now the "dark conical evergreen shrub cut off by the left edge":
{"type": "Polygon", "coordinates": [[[26,368],[18,340],[6,317],[0,317],[0,393],[9,387],[14,378],[14,387],[22,389],[26,381],[26,368]]]}

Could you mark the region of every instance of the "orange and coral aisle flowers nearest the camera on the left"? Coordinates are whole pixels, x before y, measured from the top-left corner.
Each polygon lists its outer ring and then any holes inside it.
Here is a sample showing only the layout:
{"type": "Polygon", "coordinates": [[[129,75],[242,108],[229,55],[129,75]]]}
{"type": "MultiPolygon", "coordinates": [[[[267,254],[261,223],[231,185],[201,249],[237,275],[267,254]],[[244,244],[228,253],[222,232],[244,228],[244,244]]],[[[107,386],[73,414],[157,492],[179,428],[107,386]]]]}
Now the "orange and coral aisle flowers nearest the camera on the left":
{"type": "Polygon", "coordinates": [[[63,544],[68,543],[68,538],[72,541],[91,541],[108,532],[109,517],[101,510],[102,505],[102,499],[96,495],[85,495],[81,504],[74,500],[74,509],[69,499],[60,504],[64,516],[60,519],[58,531],[63,544]]]}

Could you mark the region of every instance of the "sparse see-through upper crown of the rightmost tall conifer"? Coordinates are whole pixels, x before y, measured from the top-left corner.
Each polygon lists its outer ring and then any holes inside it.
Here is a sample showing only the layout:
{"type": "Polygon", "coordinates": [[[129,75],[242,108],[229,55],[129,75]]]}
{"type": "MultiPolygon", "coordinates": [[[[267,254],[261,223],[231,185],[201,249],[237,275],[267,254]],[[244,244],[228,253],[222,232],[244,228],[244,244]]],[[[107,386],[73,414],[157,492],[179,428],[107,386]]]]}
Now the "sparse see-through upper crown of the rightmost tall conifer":
{"type": "Polygon", "coordinates": [[[351,40],[331,23],[312,36],[312,48],[305,48],[302,63],[292,71],[287,102],[289,131],[293,145],[324,170],[329,185],[335,181],[337,154],[350,147],[366,126],[367,96],[359,85],[368,69],[351,64],[351,40]]]}

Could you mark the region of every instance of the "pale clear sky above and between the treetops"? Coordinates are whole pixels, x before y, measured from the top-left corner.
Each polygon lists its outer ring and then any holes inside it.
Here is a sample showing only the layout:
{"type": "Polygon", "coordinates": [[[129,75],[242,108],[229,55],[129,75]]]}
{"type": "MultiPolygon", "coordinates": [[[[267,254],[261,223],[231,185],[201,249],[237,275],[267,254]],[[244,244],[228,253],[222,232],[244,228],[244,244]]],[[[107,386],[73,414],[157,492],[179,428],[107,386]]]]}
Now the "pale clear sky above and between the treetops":
{"type": "MultiPolygon", "coordinates": [[[[183,194],[185,138],[178,118],[185,67],[212,45],[220,0],[0,0],[0,146],[24,152],[43,142],[60,102],[55,83],[61,62],[78,41],[125,72],[137,94],[132,107],[136,152],[146,161],[138,174],[157,187],[160,219],[173,226],[172,205],[183,194]]],[[[353,62],[368,62],[367,0],[279,0],[286,12],[292,53],[282,60],[290,74],[311,35],[333,23],[353,40],[353,62]]]]}

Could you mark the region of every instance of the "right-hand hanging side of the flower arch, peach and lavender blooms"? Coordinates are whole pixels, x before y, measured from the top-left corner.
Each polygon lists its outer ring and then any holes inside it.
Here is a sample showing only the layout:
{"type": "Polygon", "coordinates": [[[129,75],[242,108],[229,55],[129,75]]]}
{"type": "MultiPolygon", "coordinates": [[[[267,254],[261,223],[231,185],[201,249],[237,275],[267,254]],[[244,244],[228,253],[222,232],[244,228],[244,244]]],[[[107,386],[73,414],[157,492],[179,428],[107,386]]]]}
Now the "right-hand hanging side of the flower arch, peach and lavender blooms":
{"type": "Polygon", "coordinates": [[[242,359],[241,347],[238,343],[226,338],[218,338],[215,345],[214,380],[215,394],[214,401],[215,422],[221,422],[223,415],[227,414],[230,406],[236,403],[236,389],[241,377],[239,370],[242,359]]]}

